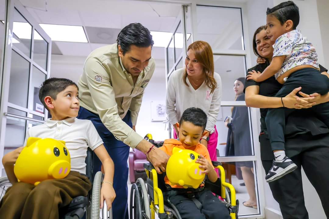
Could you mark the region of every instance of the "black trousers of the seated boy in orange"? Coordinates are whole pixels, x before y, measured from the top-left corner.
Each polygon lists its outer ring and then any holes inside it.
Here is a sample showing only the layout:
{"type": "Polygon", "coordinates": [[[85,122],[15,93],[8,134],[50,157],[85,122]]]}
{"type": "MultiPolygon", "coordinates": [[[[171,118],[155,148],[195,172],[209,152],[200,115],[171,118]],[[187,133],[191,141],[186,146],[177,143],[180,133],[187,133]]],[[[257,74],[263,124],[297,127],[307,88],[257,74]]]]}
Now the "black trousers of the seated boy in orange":
{"type": "Polygon", "coordinates": [[[201,210],[186,195],[177,195],[175,190],[164,192],[164,198],[176,206],[182,219],[231,219],[229,210],[211,191],[205,189],[194,195],[202,204],[201,210]]]}

